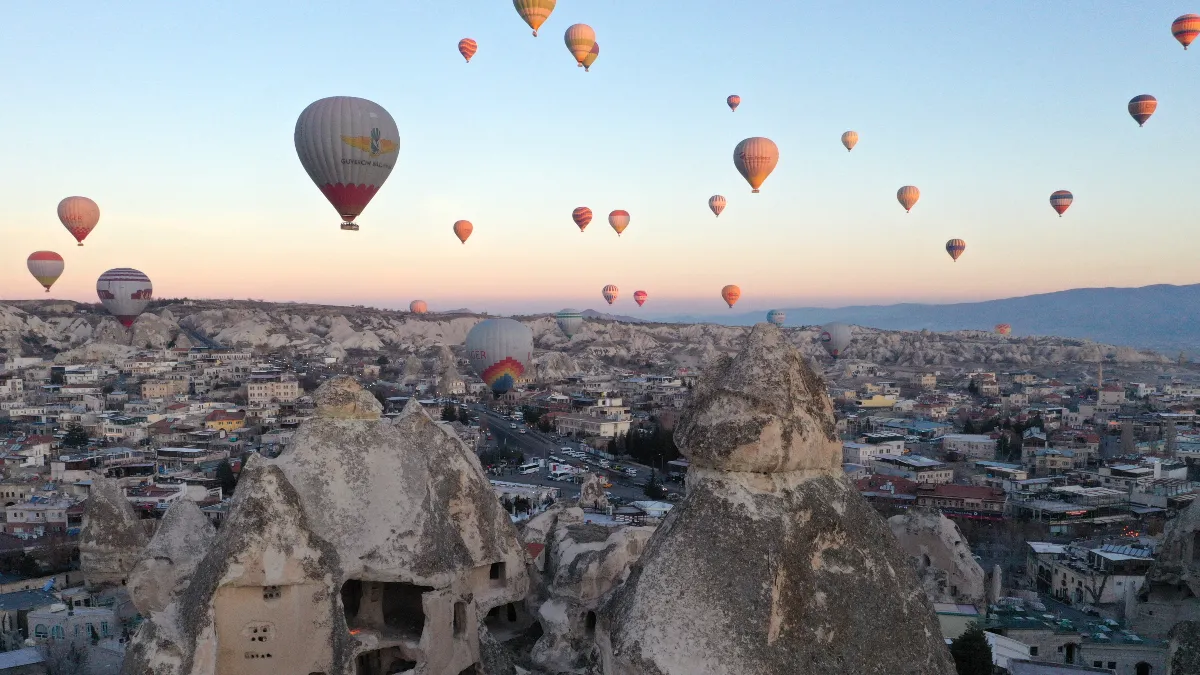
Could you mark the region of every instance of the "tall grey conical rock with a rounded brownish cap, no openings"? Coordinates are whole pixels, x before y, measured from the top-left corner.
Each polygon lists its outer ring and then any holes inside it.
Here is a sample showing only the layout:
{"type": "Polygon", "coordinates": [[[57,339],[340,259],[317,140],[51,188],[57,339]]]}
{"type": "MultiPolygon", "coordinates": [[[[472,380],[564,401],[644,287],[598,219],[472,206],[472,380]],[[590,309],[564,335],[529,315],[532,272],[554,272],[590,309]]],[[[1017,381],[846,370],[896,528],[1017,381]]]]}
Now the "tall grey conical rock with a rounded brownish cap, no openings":
{"type": "Polygon", "coordinates": [[[676,431],[688,495],[600,610],[605,675],[954,673],[833,430],[823,382],[773,325],[704,374],[676,431]]]}

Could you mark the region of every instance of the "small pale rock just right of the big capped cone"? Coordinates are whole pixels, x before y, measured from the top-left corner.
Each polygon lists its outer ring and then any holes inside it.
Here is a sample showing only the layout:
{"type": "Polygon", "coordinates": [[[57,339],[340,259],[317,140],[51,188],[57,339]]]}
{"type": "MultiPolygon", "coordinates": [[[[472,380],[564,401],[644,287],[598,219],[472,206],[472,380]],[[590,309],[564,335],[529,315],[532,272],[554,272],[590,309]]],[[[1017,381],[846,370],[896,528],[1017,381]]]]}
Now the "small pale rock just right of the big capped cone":
{"type": "Polygon", "coordinates": [[[889,518],[888,526],[912,557],[930,602],[985,609],[986,575],[953,520],[936,509],[910,508],[889,518]]]}

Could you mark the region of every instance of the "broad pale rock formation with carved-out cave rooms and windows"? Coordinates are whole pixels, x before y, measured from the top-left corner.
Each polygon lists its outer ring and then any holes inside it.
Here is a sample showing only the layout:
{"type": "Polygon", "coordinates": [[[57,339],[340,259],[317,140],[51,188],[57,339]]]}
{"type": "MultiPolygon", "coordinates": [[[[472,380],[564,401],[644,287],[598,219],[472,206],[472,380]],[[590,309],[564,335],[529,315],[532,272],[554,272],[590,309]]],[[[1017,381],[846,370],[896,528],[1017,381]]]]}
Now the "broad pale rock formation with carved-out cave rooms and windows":
{"type": "Polygon", "coordinates": [[[488,661],[506,614],[492,610],[520,604],[529,577],[474,453],[420,406],[380,419],[349,378],[316,402],[280,456],[246,462],[124,673],[458,675],[488,661]]]}

